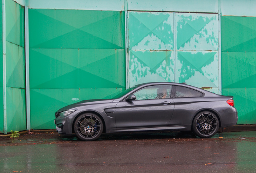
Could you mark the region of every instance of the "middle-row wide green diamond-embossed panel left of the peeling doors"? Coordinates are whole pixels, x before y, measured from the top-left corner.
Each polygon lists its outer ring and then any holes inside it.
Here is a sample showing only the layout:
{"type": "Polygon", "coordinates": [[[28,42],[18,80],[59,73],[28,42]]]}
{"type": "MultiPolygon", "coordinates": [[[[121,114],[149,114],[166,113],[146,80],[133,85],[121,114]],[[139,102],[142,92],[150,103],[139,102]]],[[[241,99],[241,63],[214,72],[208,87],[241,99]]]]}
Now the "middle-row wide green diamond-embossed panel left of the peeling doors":
{"type": "Polygon", "coordinates": [[[125,87],[124,50],[30,49],[29,55],[31,89],[125,87]]]}

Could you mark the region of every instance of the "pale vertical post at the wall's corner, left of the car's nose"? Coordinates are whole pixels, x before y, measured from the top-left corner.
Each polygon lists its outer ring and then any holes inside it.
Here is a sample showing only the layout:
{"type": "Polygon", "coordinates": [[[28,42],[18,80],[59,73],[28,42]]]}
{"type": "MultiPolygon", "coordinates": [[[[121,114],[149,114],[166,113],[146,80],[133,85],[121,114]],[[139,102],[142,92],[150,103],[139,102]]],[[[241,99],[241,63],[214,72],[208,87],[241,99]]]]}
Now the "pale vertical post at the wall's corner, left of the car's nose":
{"type": "Polygon", "coordinates": [[[29,86],[29,8],[25,6],[25,75],[27,130],[30,130],[30,86],[29,86]]]}

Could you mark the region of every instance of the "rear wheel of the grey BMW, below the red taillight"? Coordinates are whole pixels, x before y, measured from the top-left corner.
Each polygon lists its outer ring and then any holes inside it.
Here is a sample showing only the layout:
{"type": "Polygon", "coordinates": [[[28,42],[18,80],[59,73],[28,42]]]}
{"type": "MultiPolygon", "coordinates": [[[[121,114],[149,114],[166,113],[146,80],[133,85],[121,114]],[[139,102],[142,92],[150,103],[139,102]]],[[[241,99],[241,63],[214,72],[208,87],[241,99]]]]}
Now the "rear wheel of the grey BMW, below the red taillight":
{"type": "Polygon", "coordinates": [[[217,133],[218,129],[218,118],[208,111],[198,113],[192,122],[193,133],[201,138],[212,137],[217,133]]]}

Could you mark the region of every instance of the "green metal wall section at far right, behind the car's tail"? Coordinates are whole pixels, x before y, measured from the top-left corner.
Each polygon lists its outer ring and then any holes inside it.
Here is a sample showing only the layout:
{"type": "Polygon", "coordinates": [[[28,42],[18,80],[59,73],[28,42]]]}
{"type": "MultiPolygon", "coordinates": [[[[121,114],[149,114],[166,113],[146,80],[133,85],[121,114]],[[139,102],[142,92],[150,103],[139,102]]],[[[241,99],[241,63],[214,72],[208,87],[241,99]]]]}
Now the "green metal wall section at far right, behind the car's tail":
{"type": "Polygon", "coordinates": [[[238,124],[256,123],[256,18],[221,16],[222,92],[233,95],[238,124]]]}

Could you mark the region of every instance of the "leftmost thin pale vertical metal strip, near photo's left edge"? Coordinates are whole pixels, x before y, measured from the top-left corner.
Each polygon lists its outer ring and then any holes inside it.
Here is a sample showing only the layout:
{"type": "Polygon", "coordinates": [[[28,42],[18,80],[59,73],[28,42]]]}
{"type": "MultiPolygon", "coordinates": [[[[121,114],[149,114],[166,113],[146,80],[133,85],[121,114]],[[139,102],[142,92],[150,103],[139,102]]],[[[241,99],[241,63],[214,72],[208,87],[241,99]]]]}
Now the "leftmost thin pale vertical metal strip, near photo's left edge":
{"type": "Polygon", "coordinates": [[[2,0],[3,11],[3,99],[4,99],[4,134],[7,134],[7,111],[6,111],[6,20],[5,20],[5,0],[2,0]]]}

